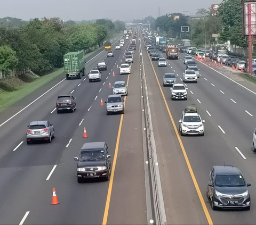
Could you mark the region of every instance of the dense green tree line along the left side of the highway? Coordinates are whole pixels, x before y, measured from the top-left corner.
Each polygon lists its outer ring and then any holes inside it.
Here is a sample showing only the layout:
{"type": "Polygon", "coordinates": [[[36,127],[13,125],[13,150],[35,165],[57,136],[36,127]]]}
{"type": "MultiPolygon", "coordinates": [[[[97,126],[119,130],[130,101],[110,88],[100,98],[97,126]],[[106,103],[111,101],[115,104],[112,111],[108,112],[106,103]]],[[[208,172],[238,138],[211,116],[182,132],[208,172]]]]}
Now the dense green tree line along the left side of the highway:
{"type": "Polygon", "coordinates": [[[0,71],[9,74],[11,70],[19,73],[31,70],[42,75],[53,68],[61,68],[67,52],[102,45],[113,32],[124,29],[124,22],[105,19],[79,24],[60,18],[28,22],[1,19],[0,71]]]}

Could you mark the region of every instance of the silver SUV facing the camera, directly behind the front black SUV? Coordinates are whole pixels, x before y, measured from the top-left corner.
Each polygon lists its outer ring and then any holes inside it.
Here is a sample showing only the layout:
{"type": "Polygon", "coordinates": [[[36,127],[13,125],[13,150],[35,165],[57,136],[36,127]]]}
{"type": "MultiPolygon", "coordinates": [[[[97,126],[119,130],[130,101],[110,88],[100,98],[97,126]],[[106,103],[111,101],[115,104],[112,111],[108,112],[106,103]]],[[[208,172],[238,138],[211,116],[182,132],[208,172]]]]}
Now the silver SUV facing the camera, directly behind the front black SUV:
{"type": "Polygon", "coordinates": [[[109,95],[107,102],[107,115],[110,113],[124,113],[124,100],[122,95],[109,95]]]}

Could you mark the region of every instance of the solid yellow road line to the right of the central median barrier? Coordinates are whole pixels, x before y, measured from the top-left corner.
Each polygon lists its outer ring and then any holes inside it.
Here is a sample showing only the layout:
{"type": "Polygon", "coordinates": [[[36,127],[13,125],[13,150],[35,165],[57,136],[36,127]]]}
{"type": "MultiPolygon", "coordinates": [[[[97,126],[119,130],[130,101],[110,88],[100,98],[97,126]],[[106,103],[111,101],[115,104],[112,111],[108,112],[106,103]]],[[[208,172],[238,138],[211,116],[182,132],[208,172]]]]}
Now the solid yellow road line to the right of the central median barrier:
{"type": "MultiPolygon", "coordinates": [[[[147,53],[147,54],[148,54],[148,53],[147,53]]],[[[148,57],[149,57],[149,55],[148,55],[148,57]]],[[[181,138],[180,138],[180,134],[179,134],[179,132],[178,132],[178,129],[177,129],[177,127],[175,126],[175,123],[174,123],[174,120],[173,120],[171,111],[170,111],[169,106],[168,106],[168,104],[167,104],[166,98],[165,98],[165,96],[164,96],[162,87],[161,87],[161,85],[160,85],[160,83],[159,83],[159,80],[158,80],[157,75],[156,75],[155,68],[154,68],[154,66],[153,66],[153,63],[152,63],[151,60],[150,60],[150,57],[149,57],[149,61],[150,61],[150,63],[151,63],[151,66],[152,66],[152,68],[153,68],[153,71],[154,71],[154,73],[155,73],[155,77],[156,77],[156,81],[157,81],[158,87],[159,87],[159,89],[160,89],[160,91],[161,91],[161,94],[162,94],[162,97],[163,97],[163,99],[164,99],[164,103],[165,103],[166,109],[167,109],[167,111],[168,111],[168,113],[169,113],[169,116],[170,116],[170,119],[171,119],[173,128],[174,128],[175,133],[176,133],[176,135],[177,135],[177,138],[178,138],[178,140],[179,140],[180,147],[181,147],[181,149],[182,149],[182,153],[183,153],[183,155],[184,155],[184,157],[185,157],[185,161],[186,161],[186,163],[187,163],[190,176],[191,176],[191,178],[192,178],[192,180],[193,180],[193,182],[194,182],[194,185],[195,185],[195,188],[196,188],[198,197],[199,197],[200,202],[201,202],[201,204],[202,204],[202,207],[203,207],[203,210],[204,210],[204,214],[205,214],[205,216],[206,216],[206,219],[207,219],[208,223],[209,223],[210,225],[212,225],[213,222],[212,222],[211,216],[210,216],[209,211],[208,211],[208,209],[207,209],[207,207],[206,207],[206,205],[205,205],[203,195],[202,195],[201,190],[200,190],[200,188],[199,188],[199,186],[198,186],[198,184],[197,184],[195,174],[194,174],[194,172],[193,172],[193,169],[192,169],[191,164],[190,164],[189,159],[188,159],[188,155],[187,155],[186,150],[185,150],[185,148],[184,148],[184,146],[183,146],[183,143],[182,143],[182,140],[181,140],[181,138]]]]}

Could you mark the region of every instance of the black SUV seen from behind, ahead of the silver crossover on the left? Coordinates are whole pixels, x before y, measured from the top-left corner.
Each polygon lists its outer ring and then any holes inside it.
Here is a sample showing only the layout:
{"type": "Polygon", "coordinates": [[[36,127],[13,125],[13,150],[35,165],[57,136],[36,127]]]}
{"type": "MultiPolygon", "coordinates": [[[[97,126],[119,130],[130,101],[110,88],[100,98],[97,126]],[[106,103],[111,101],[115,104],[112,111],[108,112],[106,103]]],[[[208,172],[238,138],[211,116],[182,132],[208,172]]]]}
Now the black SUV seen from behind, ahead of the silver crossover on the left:
{"type": "Polygon", "coordinates": [[[76,110],[76,98],[72,95],[59,95],[56,102],[57,113],[61,111],[71,111],[75,112],[76,110]]]}

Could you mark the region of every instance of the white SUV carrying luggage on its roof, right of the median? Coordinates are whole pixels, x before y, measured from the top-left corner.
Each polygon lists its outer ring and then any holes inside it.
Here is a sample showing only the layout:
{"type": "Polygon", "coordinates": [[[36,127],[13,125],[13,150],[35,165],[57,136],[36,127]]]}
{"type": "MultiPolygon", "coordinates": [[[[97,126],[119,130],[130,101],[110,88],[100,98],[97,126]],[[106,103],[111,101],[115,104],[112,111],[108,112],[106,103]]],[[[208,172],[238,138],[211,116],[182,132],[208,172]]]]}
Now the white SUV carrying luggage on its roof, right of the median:
{"type": "Polygon", "coordinates": [[[181,113],[179,120],[180,135],[202,135],[204,136],[204,123],[197,112],[196,107],[188,106],[181,113]]]}

